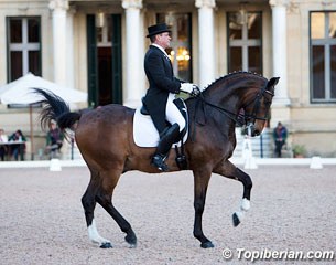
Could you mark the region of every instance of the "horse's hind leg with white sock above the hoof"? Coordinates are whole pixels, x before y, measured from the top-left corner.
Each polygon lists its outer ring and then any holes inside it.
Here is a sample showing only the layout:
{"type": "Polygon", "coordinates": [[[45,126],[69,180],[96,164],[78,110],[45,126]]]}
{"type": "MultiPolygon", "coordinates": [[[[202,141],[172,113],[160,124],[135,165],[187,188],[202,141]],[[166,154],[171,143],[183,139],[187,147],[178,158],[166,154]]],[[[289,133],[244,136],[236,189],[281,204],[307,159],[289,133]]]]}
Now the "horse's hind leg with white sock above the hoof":
{"type": "Polygon", "coordinates": [[[96,193],[99,188],[99,180],[98,180],[98,173],[95,173],[91,171],[91,179],[90,182],[86,189],[86,192],[82,197],[82,204],[85,212],[85,219],[87,224],[87,231],[89,240],[93,243],[97,243],[100,247],[107,248],[111,247],[110,241],[101,237],[97,231],[94,211],[96,208],[96,193]]]}

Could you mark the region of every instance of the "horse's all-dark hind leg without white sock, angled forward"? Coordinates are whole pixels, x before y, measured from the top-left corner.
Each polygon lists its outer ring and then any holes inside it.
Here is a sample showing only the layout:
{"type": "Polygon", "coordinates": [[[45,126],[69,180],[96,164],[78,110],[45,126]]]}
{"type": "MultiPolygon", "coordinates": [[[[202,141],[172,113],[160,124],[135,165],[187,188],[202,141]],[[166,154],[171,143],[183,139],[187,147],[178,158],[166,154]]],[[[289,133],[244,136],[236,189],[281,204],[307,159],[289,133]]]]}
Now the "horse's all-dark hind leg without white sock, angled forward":
{"type": "Polygon", "coordinates": [[[118,183],[120,173],[116,171],[107,171],[101,173],[102,183],[97,193],[97,202],[113,218],[122,232],[126,233],[124,240],[129,243],[130,247],[137,246],[137,236],[130,223],[117,211],[112,204],[112,193],[118,183]]]}

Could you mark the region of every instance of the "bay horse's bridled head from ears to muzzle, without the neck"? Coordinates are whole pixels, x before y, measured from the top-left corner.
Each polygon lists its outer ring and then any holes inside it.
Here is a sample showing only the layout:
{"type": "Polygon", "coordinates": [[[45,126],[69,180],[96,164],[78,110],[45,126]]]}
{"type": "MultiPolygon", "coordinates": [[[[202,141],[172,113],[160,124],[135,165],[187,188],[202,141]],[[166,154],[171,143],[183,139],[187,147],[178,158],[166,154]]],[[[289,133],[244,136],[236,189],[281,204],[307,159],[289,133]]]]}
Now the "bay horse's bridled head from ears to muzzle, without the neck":
{"type": "Polygon", "coordinates": [[[272,77],[260,87],[252,100],[245,106],[246,130],[249,136],[259,136],[269,118],[269,112],[274,96],[274,87],[280,77],[272,77]]]}

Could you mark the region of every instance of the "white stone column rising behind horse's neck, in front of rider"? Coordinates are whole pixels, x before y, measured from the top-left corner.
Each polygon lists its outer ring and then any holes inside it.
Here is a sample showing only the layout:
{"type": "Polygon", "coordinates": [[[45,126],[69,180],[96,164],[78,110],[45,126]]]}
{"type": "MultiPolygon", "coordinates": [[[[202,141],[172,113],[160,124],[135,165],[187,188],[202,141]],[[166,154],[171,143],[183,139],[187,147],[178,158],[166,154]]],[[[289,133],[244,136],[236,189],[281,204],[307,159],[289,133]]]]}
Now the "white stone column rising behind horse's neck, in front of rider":
{"type": "Polygon", "coordinates": [[[198,8],[198,72],[199,87],[204,88],[215,80],[215,36],[214,8],[215,0],[196,0],[198,8]]]}

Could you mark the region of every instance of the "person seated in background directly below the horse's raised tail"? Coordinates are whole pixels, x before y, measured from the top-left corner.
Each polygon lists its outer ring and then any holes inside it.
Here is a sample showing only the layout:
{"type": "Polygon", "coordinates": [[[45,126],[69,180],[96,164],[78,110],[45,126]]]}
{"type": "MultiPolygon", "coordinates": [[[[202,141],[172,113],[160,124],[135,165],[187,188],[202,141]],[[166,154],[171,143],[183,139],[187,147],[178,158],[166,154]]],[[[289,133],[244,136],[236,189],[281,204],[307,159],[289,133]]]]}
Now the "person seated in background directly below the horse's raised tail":
{"type": "Polygon", "coordinates": [[[51,158],[54,158],[59,153],[63,146],[64,136],[59,128],[57,128],[55,121],[50,123],[50,130],[46,135],[46,151],[51,158]]]}

